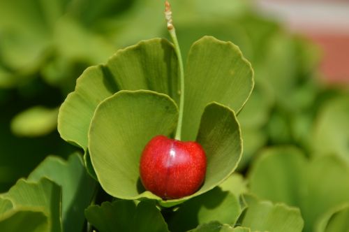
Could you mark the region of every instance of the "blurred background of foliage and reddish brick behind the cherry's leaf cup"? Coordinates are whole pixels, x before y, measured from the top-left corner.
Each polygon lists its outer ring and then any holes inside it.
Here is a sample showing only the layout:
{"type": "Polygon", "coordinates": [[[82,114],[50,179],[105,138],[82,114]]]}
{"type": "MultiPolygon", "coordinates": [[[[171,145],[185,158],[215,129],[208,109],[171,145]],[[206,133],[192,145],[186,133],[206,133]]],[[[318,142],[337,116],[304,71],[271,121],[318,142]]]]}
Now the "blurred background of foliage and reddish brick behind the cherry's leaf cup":
{"type": "MultiPolygon", "coordinates": [[[[349,159],[348,1],[171,3],[184,57],[211,35],[239,45],[255,70],[239,115],[239,171],[274,145],[349,159]]],[[[59,106],[88,66],[140,40],[168,38],[163,8],[159,0],[0,0],[0,192],[48,154],[77,149],[59,137],[59,106]]]]}

